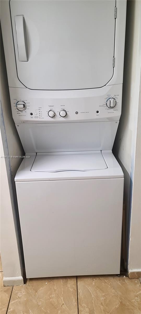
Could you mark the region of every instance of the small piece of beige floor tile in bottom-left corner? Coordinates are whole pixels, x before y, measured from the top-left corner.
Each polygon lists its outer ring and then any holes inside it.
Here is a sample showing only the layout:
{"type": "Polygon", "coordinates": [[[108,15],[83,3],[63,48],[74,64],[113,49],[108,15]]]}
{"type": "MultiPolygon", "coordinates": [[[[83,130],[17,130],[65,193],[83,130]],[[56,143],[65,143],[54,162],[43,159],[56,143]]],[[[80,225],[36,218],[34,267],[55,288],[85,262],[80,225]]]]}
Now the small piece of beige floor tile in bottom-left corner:
{"type": "Polygon", "coordinates": [[[3,272],[0,272],[0,313],[6,314],[12,287],[3,287],[3,272]]]}

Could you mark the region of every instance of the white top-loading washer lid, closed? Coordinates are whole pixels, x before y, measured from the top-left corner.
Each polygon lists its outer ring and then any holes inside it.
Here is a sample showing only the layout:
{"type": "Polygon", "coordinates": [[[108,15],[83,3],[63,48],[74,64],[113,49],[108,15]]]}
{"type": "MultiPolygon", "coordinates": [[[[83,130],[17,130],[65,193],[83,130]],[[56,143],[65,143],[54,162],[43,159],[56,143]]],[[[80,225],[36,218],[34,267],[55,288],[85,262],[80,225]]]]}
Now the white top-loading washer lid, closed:
{"type": "Polygon", "coordinates": [[[31,171],[90,171],[106,169],[101,151],[38,153],[31,171]]]}

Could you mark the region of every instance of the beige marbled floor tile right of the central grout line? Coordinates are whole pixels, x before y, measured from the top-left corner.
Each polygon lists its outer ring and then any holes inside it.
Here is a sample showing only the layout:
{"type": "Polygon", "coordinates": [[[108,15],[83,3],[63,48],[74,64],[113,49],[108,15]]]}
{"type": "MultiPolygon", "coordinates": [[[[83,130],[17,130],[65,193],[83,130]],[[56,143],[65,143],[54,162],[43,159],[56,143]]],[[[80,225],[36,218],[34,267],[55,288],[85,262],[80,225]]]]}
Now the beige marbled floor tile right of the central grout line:
{"type": "Polygon", "coordinates": [[[141,314],[139,279],[78,277],[79,314],[141,314]]]}

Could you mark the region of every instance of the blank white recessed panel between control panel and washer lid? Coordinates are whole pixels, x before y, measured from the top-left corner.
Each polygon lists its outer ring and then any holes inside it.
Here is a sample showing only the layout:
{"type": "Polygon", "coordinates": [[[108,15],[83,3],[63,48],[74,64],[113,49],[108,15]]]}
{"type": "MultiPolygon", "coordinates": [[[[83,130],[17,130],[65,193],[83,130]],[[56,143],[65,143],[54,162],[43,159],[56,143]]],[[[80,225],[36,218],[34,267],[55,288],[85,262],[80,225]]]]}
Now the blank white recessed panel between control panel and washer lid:
{"type": "Polygon", "coordinates": [[[24,151],[30,153],[111,150],[119,121],[16,125],[24,151]]]}

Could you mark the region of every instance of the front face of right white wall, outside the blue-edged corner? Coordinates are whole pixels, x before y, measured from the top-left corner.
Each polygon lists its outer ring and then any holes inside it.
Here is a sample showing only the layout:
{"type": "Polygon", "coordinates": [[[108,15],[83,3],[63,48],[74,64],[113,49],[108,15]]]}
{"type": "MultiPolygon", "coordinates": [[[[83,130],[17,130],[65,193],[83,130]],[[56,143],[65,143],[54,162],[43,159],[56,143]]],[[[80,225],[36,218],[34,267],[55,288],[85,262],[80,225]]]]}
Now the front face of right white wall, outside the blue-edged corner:
{"type": "Polygon", "coordinates": [[[141,271],[141,80],[133,180],[133,200],[129,237],[128,269],[129,272],[141,271]]]}

